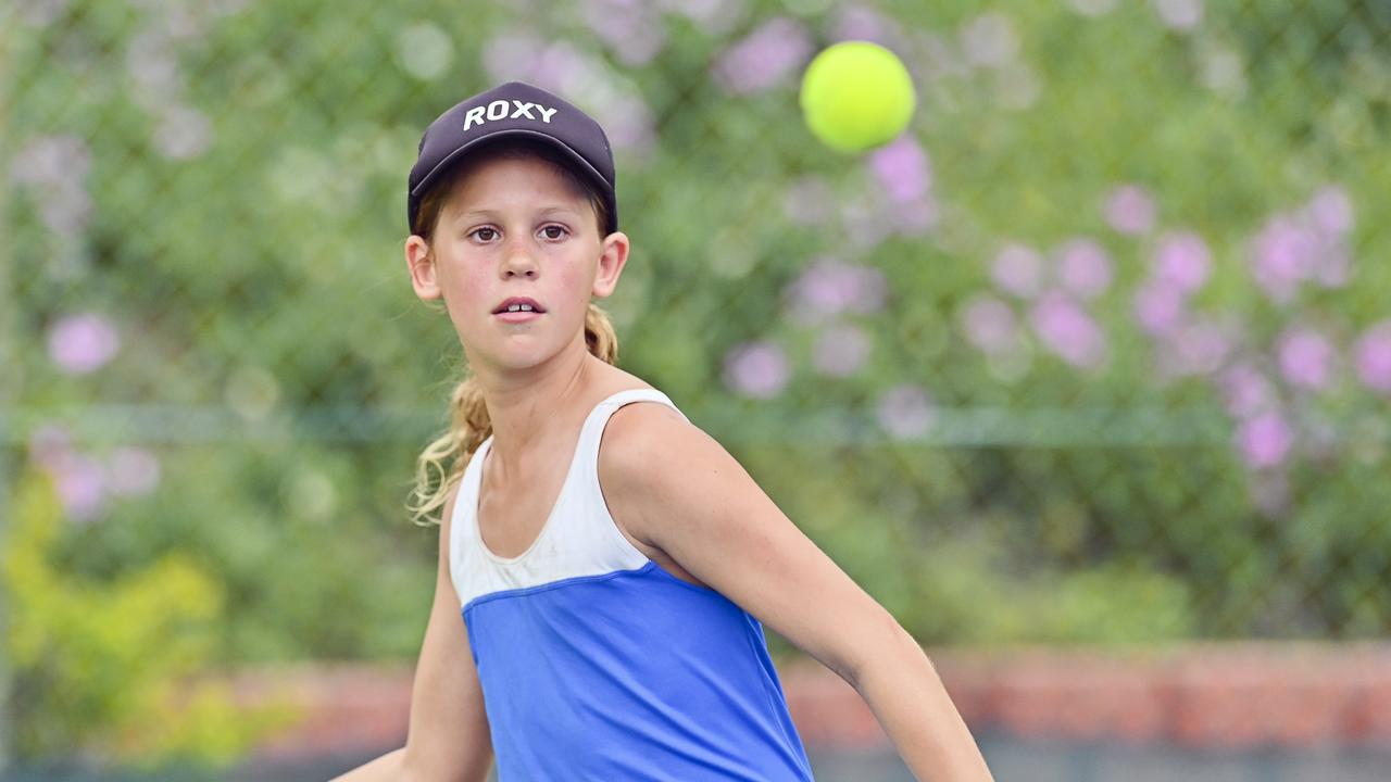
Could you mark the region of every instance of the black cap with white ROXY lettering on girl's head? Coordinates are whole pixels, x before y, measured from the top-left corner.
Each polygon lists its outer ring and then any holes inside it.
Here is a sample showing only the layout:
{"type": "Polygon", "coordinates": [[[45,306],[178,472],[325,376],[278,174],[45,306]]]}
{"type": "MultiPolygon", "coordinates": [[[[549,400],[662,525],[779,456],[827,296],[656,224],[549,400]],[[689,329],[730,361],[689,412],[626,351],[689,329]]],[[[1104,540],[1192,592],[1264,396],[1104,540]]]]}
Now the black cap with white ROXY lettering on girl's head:
{"type": "Polygon", "coordinates": [[[415,231],[420,199],[451,163],[484,139],[502,136],[531,138],[563,152],[604,196],[609,213],[606,234],[618,231],[613,152],[604,128],[569,102],[526,82],[506,82],[466,97],[430,122],[408,179],[408,228],[415,231]]]}

